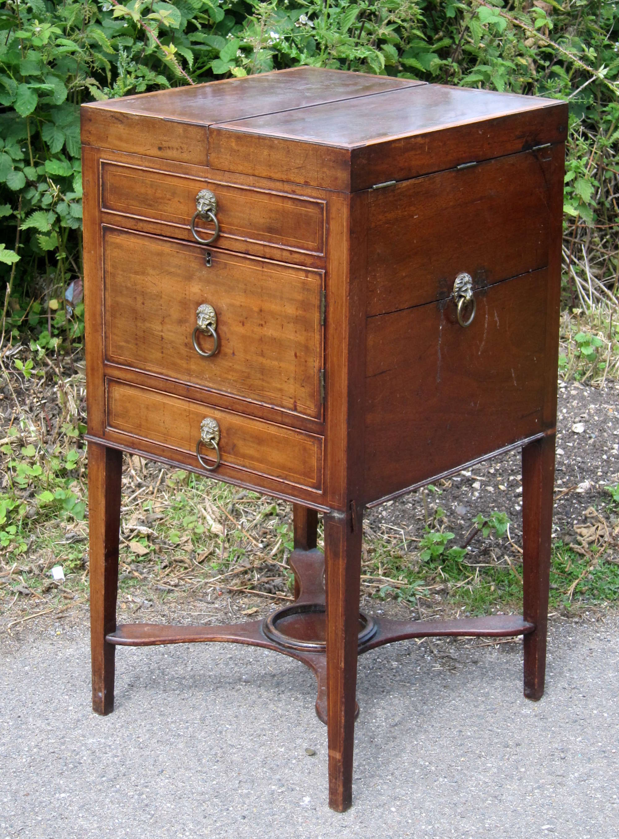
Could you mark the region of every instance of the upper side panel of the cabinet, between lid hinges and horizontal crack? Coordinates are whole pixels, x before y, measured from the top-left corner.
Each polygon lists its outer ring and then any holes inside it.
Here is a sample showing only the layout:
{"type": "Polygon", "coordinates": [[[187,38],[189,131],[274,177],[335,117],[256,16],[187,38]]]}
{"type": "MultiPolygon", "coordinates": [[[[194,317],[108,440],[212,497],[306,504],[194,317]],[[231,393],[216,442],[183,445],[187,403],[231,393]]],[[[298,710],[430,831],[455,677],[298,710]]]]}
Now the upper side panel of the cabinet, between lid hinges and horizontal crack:
{"type": "Polygon", "coordinates": [[[549,149],[368,193],[367,314],[448,297],[548,264],[549,149]]]}

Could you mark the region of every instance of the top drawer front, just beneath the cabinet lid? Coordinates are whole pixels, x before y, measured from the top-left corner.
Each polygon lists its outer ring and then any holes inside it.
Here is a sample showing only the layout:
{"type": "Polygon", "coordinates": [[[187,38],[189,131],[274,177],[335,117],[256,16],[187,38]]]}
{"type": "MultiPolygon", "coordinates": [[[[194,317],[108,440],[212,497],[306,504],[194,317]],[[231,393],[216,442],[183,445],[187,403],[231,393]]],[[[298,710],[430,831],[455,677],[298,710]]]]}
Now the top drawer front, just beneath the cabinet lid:
{"type": "MultiPolygon", "coordinates": [[[[102,210],[160,222],[166,235],[190,242],[195,198],[205,189],[216,196],[217,248],[260,254],[268,245],[324,255],[324,201],[101,161],[102,210]]],[[[214,226],[198,217],[195,231],[208,239],[214,226]]]]}

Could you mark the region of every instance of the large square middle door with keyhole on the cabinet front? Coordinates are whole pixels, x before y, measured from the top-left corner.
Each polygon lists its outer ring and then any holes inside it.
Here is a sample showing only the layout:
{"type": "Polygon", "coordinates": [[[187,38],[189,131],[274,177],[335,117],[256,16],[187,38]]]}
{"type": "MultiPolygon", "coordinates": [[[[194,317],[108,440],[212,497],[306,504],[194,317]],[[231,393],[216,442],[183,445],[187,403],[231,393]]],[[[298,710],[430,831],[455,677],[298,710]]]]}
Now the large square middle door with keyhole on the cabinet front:
{"type": "Polygon", "coordinates": [[[320,420],[321,271],[116,228],[103,252],[108,362],[320,420]]]}

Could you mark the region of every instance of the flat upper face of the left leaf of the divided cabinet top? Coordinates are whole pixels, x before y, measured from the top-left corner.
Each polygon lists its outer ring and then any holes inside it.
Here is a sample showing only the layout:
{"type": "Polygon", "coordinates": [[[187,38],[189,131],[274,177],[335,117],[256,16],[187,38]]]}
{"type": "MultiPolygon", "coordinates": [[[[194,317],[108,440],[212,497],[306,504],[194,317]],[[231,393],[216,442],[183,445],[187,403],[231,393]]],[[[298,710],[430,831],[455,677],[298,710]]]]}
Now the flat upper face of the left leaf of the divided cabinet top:
{"type": "Polygon", "coordinates": [[[243,79],[174,87],[85,106],[208,127],[268,114],[424,85],[423,81],[369,76],[342,70],[296,67],[243,79]]]}

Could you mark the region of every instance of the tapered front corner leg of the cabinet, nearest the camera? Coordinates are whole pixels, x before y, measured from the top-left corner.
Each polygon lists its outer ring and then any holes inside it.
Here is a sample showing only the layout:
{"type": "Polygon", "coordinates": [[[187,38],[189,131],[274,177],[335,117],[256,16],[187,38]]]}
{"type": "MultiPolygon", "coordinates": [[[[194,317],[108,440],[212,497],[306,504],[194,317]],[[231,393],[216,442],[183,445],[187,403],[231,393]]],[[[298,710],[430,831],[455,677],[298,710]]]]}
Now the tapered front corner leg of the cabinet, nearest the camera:
{"type": "Polygon", "coordinates": [[[325,514],[327,739],[329,806],[352,803],[362,513],[325,514]]]}

